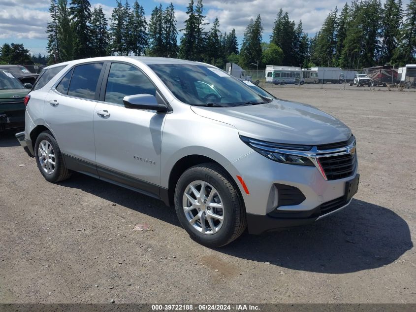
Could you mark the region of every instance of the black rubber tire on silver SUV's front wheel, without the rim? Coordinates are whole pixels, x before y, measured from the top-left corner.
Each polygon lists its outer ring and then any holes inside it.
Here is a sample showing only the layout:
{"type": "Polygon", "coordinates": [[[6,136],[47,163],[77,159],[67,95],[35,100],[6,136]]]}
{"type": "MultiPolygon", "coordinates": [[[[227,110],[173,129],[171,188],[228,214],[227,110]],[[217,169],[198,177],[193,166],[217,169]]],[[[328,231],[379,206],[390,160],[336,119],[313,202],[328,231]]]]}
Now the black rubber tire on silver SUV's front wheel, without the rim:
{"type": "Polygon", "coordinates": [[[193,166],[181,175],[175,188],[175,210],[182,227],[192,240],[207,247],[216,248],[231,243],[246,229],[246,209],[238,187],[228,173],[214,163],[193,166]],[[223,225],[217,233],[211,235],[196,230],[185,216],[182,199],[188,185],[197,180],[211,184],[223,202],[223,225]]]}

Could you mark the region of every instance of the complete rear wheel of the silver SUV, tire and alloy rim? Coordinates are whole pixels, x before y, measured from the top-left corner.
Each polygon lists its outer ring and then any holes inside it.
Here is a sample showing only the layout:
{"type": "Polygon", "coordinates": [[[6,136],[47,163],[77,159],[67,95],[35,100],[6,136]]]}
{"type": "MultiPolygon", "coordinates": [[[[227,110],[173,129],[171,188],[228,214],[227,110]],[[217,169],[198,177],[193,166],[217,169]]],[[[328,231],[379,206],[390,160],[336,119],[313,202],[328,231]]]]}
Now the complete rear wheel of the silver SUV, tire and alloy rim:
{"type": "Polygon", "coordinates": [[[44,131],[37,136],[34,153],[37,168],[47,181],[55,183],[71,175],[65,166],[58,142],[49,131],[44,131]]]}

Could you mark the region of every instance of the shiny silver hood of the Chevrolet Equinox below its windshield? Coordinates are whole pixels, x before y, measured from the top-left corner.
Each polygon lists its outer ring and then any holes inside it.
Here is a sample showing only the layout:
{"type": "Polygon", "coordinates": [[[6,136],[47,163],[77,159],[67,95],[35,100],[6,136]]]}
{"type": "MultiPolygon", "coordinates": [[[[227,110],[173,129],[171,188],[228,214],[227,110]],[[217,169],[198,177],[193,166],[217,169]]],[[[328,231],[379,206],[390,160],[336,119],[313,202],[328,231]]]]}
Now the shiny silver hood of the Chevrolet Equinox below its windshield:
{"type": "Polygon", "coordinates": [[[319,145],[346,141],[351,130],[311,105],[274,100],[236,107],[192,106],[203,117],[230,124],[241,136],[277,143],[319,145]]]}

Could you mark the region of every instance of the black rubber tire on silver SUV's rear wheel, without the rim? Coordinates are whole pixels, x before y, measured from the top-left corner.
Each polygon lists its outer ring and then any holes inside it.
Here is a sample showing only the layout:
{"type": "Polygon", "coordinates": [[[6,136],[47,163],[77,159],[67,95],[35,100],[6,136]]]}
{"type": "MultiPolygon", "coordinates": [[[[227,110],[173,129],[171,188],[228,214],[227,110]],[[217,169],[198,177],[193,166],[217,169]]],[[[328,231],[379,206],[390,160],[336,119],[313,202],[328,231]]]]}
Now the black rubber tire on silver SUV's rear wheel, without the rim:
{"type": "Polygon", "coordinates": [[[41,132],[34,144],[34,155],[36,159],[37,168],[39,169],[40,173],[42,173],[43,177],[52,183],[60,182],[66,180],[71,176],[71,172],[66,168],[64,158],[61,153],[61,149],[58,146],[58,142],[53,137],[52,133],[49,131],[41,132]],[[40,164],[39,160],[39,144],[42,140],[48,141],[53,148],[54,155],[55,155],[55,169],[52,173],[46,173],[42,169],[42,165],[40,164]]]}

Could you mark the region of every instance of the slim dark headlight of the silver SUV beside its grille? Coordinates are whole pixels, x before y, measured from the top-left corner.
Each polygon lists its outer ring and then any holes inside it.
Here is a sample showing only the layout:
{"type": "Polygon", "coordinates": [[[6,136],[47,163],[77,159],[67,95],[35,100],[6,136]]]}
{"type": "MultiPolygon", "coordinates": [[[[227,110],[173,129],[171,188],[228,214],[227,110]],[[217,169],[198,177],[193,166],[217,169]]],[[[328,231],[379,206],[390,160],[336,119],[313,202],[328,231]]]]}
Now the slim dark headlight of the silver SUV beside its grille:
{"type": "Polygon", "coordinates": [[[265,142],[243,136],[240,136],[240,139],[253,148],[257,153],[279,163],[300,166],[315,166],[315,164],[308,157],[295,155],[296,152],[311,150],[312,146],[265,142]],[[285,153],[285,151],[288,151],[288,153],[285,153]]]}

